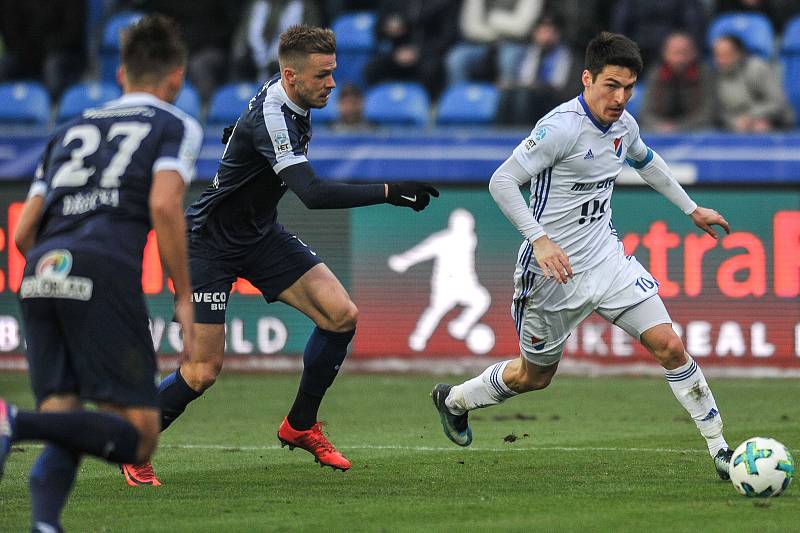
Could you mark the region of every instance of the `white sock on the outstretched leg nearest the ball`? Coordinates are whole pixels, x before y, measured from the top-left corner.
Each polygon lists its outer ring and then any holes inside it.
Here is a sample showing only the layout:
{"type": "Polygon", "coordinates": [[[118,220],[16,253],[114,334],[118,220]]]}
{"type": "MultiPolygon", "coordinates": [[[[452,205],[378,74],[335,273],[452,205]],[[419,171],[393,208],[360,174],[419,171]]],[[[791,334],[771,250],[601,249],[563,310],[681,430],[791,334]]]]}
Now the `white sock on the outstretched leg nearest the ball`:
{"type": "Polygon", "coordinates": [[[728,447],[722,436],[722,415],[717,409],[714,395],[706,383],[700,366],[691,356],[685,365],[674,370],[665,370],[664,376],[673,394],[694,420],[700,434],[705,437],[712,457],[728,447]]]}

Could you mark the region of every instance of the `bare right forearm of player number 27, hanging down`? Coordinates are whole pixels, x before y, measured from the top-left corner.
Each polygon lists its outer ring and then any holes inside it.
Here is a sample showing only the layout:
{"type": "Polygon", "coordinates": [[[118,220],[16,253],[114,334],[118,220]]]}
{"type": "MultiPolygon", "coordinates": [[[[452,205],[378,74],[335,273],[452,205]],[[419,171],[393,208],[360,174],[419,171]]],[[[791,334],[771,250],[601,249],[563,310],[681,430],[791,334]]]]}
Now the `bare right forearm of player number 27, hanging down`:
{"type": "Polygon", "coordinates": [[[149,205],[153,229],[158,238],[161,259],[175,286],[175,317],[183,332],[183,358],[192,353],[194,307],[191,302],[186,221],[183,217],[183,178],[174,170],[161,170],[153,176],[149,205]]]}

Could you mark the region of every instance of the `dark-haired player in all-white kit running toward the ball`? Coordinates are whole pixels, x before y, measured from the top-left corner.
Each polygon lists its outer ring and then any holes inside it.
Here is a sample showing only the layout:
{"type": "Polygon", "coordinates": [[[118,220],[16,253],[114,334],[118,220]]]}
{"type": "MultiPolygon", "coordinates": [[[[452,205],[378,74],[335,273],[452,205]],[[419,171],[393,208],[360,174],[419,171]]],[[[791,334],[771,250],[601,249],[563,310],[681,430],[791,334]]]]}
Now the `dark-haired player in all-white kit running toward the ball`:
{"type": "Polygon", "coordinates": [[[718,475],[728,479],[732,453],[714,396],[672,329],[657,281],[625,255],[611,222],[614,181],[627,160],[698,228],[714,238],[712,225],[730,232],[719,213],[692,201],[625,111],[642,66],[639,47],[627,37],[595,37],[586,49],[583,93],[542,118],[495,171],[492,197],[525,237],[511,308],[520,357],[461,385],[439,384],[431,395],[445,435],[468,446],[468,412],[547,387],[567,337],[596,311],[638,339],[664,367],[672,392],[705,437],[718,475]],[[519,190],[528,182],[530,205],[519,190]]]}

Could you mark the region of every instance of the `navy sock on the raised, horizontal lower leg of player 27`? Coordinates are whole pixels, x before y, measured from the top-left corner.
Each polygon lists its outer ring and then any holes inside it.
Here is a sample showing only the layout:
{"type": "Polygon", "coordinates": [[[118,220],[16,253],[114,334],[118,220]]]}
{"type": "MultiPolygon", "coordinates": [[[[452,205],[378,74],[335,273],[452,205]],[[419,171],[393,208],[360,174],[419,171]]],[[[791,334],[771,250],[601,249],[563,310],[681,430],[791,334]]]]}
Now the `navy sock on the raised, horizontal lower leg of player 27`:
{"type": "Polygon", "coordinates": [[[67,450],[100,457],[112,463],[136,463],[139,432],[124,418],[110,413],[19,411],[14,441],[45,440],[67,450]]]}

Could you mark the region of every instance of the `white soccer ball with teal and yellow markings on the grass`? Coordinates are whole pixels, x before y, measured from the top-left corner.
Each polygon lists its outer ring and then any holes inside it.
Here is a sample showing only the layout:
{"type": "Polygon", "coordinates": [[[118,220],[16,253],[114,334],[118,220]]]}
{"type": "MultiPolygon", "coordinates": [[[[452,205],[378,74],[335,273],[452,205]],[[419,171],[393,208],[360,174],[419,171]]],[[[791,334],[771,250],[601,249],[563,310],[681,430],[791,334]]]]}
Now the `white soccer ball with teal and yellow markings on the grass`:
{"type": "Polygon", "coordinates": [[[747,439],[731,457],[731,482],[745,496],[778,496],[789,486],[793,475],[794,458],[775,439],[747,439]]]}

